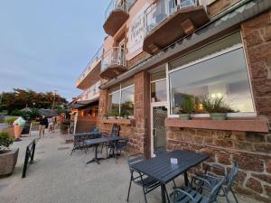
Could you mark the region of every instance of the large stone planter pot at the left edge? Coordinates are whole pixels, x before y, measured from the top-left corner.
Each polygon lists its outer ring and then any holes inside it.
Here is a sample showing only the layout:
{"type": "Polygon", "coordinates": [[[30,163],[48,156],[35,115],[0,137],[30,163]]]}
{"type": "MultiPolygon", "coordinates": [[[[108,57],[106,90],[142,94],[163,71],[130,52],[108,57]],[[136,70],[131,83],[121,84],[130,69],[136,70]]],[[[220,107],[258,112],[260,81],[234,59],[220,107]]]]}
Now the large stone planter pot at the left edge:
{"type": "Polygon", "coordinates": [[[0,177],[12,174],[18,159],[19,148],[0,153],[0,177]]]}

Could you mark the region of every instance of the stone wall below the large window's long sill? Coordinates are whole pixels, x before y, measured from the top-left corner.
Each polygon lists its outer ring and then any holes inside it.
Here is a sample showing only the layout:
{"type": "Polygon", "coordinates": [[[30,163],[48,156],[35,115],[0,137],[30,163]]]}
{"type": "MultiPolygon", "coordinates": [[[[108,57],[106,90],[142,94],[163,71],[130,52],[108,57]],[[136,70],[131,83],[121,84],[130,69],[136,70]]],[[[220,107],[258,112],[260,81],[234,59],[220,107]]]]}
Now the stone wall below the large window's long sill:
{"type": "Polygon", "coordinates": [[[210,156],[204,164],[217,164],[228,171],[232,161],[238,161],[238,192],[270,202],[271,133],[168,128],[167,149],[203,152],[210,156]]]}

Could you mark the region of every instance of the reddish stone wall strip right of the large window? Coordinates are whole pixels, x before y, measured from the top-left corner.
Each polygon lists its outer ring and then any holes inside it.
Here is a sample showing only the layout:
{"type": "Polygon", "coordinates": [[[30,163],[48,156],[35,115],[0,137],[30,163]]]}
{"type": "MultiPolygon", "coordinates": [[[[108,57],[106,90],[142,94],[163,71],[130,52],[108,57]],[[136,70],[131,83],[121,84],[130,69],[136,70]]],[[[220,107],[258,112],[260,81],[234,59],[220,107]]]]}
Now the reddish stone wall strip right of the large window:
{"type": "Polygon", "coordinates": [[[243,23],[241,32],[257,113],[271,121],[271,11],[243,23]]]}

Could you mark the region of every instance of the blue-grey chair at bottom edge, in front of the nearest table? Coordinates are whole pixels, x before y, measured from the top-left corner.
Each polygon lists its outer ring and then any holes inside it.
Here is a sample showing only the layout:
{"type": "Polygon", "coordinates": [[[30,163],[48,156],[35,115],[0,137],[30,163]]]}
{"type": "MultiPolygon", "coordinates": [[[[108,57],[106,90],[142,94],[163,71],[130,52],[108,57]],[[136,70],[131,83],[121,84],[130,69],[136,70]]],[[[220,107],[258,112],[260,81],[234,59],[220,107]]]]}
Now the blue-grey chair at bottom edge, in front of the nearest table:
{"type": "MultiPolygon", "coordinates": [[[[210,182],[208,180],[201,179],[200,177],[196,177],[195,179],[200,179],[204,181],[205,184],[210,186],[210,182]]],[[[197,190],[183,187],[174,189],[173,193],[170,195],[170,199],[172,203],[210,203],[217,202],[217,197],[222,187],[225,178],[221,180],[216,180],[216,184],[210,190],[210,194],[208,196],[203,196],[197,190]]],[[[211,187],[211,186],[210,186],[211,187]]]]}

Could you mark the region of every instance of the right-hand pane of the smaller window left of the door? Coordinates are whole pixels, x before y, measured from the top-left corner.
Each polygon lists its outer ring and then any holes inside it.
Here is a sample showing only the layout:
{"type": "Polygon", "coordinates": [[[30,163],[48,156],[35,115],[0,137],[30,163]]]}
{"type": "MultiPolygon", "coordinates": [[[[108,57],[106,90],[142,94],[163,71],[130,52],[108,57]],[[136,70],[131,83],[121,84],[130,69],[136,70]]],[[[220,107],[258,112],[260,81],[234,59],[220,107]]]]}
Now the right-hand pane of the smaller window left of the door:
{"type": "Polygon", "coordinates": [[[121,92],[120,108],[125,115],[134,115],[135,87],[123,89],[121,92]]]}

